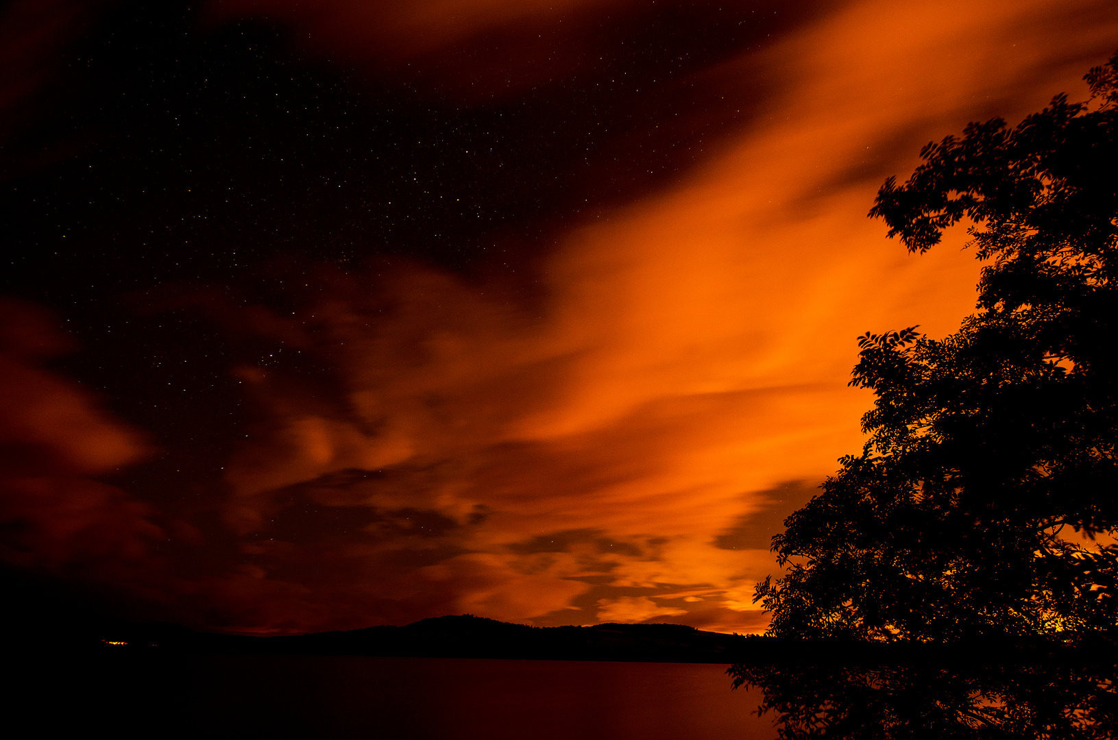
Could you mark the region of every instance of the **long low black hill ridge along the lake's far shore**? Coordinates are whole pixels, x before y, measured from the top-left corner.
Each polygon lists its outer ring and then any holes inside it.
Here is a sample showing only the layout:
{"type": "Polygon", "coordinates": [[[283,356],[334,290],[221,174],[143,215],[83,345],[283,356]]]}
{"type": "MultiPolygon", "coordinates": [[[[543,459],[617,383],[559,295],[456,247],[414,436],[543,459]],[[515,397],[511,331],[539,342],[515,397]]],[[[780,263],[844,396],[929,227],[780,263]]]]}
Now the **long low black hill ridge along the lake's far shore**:
{"type": "MultiPolygon", "coordinates": [[[[88,633],[87,633],[88,634],[88,633]]],[[[793,641],[726,635],[684,625],[600,624],[530,627],[472,615],[433,617],[402,627],[248,637],[199,633],[179,625],[104,625],[86,646],[129,651],[155,646],[186,653],[379,655],[400,657],[745,663],[755,665],[900,665],[1118,663],[1118,648],[1101,636],[1060,641],[982,643],[866,643],[793,641]],[[112,643],[119,643],[113,645],[112,643]]],[[[69,641],[73,646],[74,641],[69,641]]]]}

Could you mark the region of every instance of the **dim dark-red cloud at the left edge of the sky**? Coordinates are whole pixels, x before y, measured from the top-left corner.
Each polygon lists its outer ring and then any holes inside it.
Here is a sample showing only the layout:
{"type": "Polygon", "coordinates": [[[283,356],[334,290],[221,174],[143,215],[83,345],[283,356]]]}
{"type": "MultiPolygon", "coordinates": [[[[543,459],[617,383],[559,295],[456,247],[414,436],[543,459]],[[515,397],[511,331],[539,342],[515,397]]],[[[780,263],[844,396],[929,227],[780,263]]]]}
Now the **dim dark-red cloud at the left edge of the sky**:
{"type": "Polygon", "coordinates": [[[54,319],[0,301],[0,558],[119,579],[162,537],[146,504],[93,480],[145,453],[140,435],[74,382],[37,367],[70,349],[54,319]]]}

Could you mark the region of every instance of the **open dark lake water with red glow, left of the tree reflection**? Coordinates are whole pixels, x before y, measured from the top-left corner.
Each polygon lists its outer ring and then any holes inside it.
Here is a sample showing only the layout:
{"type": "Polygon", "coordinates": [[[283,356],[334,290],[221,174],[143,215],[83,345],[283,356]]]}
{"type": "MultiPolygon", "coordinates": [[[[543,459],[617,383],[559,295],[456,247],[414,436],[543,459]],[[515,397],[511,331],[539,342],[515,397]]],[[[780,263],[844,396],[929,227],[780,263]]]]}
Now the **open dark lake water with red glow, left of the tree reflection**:
{"type": "Polygon", "coordinates": [[[152,738],[776,737],[773,715],[755,713],[759,693],[731,691],[724,665],[318,655],[110,662],[107,670],[91,663],[56,681],[69,686],[72,706],[84,704],[75,711],[88,721],[78,727],[152,738]]]}

